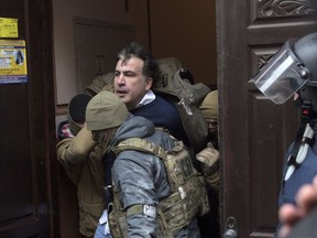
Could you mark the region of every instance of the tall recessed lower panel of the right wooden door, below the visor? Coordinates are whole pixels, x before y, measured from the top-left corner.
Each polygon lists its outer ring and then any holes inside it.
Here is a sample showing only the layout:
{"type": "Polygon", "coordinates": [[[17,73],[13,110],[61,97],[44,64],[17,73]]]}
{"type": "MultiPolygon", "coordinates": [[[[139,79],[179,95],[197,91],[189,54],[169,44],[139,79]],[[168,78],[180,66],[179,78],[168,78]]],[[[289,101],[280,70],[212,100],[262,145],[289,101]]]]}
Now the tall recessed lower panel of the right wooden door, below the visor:
{"type": "MultiPolygon", "coordinates": [[[[296,133],[288,116],[293,105],[281,108],[263,97],[250,99],[250,228],[252,234],[273,232],[277,224],[276,204],[285,148],[296,133]],[[281,123],[285,121],[285,123],[281,123]],[[283,127],[288,127],[286,130],[283,127]],[[287,137],[288,136],[288,137],[287,137]],[[284,138],[284,139],[283,139],[284,138]],[[288,138],[288,141],[285,141],[288,138]]],[[[295,115],[293,118],[296,118],[295,115]]],[[[256,237],[256,236],[255,236],[256,237]]]]}

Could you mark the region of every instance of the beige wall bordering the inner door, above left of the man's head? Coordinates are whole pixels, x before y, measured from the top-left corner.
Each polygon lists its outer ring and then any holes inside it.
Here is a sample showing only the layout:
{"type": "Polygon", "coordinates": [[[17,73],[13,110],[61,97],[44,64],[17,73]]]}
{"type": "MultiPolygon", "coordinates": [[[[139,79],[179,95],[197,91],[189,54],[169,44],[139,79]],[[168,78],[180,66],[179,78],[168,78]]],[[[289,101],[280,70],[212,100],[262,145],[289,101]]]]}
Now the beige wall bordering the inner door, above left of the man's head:
{"type": "Polygon", "coordinates": [[[132,24],[135,25],[135,37],[149,42],[146,1],[128,2],[129,12],[125,11],[124,0],[53,0],[57,106],[68,104],[79,93],[76,82],[74,18],[132,24]]]}

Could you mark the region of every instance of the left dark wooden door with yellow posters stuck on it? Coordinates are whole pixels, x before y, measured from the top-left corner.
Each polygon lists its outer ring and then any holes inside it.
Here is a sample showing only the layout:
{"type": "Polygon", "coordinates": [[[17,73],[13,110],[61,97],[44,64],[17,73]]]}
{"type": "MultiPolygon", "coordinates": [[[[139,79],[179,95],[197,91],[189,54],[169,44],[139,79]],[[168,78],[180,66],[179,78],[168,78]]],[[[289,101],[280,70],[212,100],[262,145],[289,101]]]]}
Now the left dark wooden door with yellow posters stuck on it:
{"type": "MultiPolygon", "coordinates": [[[[13,45],[18,40],[25,41],[28,77],[24,82],[11,78],[9,84],[0,80],[0,237],[53,237],[56,207],[51,183],[55,152],[51,0],[2,3],[0,40],[12,40],[13,45]],[[3,24],[8,19],[18,20],[18,35],[11,35],[17,29],[14,23],[3,24]]],[[[10,52],[8,48],[2,56],[10,52]]],[[[0,76],[9,78],[15,71],[13,64],[1,64],[0,76]]]]}

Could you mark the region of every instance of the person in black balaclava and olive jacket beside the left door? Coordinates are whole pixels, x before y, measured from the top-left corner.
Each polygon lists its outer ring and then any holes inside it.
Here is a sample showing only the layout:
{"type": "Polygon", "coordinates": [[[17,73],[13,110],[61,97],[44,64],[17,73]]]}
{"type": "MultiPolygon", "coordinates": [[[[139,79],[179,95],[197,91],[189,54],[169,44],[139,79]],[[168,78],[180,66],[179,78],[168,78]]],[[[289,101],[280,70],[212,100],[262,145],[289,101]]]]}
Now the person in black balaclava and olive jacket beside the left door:
{"type": "Polygon", "coordinates": [[[62,140],[56,145],[57,160],[77,187],[79,231],[84,237],[94,237],[106,204],[102,151],[85,127],[90,99],[86,94],[72,98],[68,123],[61,123],[58,136],[62,140]]]}

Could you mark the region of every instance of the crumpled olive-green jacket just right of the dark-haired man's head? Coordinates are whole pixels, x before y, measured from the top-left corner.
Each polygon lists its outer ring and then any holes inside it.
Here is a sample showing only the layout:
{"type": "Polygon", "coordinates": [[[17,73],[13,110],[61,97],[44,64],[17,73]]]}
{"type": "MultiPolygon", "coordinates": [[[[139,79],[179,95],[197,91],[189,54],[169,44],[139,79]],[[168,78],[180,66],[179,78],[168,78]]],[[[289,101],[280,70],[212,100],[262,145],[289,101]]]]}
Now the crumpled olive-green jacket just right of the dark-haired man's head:
{"type": "Polygon", "coordinates": [[[207,145],[208,125],[199,106],[210,88],[203,83],[193,84],[193,75],[175,57],[162,58],[157,63],[162,76],[152,90],[176,106],[190,148],[197,153],[207,145]]]}

